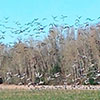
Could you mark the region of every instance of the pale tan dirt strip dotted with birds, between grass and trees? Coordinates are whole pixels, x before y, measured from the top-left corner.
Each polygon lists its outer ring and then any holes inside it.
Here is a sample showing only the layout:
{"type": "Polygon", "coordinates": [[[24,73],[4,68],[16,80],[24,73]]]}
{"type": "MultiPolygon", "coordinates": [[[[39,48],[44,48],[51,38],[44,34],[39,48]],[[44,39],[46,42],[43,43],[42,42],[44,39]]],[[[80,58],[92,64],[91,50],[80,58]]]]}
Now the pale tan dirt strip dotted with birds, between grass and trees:
{"type": "Polygon", "coordinates": [[[23,90],[42,90],[42,89],[66,89],[66,90],[100,90],[100,85],[98,86],[84,86],[84,85],[78,85],[78,86],[73,86],[73,85],[60,85],[60,86],[48,86],[48,85],[42,85],[42,86],[27,86],[27,85],[0,85],[0,90],[3,89],[23,89],[23,90]]]}

